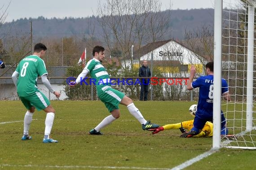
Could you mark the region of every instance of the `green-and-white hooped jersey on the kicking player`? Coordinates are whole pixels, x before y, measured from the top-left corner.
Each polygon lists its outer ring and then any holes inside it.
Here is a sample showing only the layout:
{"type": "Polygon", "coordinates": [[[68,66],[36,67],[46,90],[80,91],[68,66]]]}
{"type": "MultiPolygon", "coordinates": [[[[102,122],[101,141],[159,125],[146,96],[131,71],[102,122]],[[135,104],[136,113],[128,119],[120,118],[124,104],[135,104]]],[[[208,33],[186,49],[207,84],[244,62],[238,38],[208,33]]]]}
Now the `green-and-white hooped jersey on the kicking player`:
{"type": "Polygon", "coordinates": [[[102,91],[105,91],[106,88],[110,87],[110,77],[106,72],[106,68],[104,68],[99,60],[94,58],[89,60],[85,69],[90,72],[90,75],[93,78],[92,81],[95,82],[98,95],[102,91]]]}

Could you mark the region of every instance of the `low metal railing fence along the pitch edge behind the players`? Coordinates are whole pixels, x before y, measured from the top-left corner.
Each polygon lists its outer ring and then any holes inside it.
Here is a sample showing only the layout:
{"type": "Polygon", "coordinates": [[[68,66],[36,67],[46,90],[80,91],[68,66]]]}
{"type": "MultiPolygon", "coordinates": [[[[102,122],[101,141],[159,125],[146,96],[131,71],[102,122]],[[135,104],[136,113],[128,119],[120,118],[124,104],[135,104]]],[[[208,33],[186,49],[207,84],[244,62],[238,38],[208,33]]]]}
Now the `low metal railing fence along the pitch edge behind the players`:
{"type": "MultiPolygon", "coordinates": [[[[50,100],[98,100],[96,84],[88,77],[75,87],[68,85],[71,77],[48,77],[51,85],[61,93],[60,98],[49,90],[38,79],[38,88],[50,100]]],[[[153,101],[193,101],[198,100],[198,90],[186,90],[187,78],[152,77],[149,83],[148,100],[153,101]]],[[[140,98],[141,77],[111,77],[111,87],[123,92],[133,100],[140,98]]],[[[11,77],[0,77],[0,100],[18,100],[16,87],[11,77]]]]}

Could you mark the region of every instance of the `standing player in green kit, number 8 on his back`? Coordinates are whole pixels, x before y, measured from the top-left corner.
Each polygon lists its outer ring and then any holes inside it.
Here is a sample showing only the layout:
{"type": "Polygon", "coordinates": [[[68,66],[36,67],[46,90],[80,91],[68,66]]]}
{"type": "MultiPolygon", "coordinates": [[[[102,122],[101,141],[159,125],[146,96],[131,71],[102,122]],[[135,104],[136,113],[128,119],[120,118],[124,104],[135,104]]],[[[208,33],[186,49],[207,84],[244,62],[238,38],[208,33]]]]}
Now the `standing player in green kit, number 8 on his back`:
{"type": "Polygon", "coordinates": [[[48,72],[42,59],[46,50],[47,48],[44,44],[35,44],[33,55],[29,55],[20,61],[15,72],[13,72],[12,79],[17,87],[18,96],[27,109],[24,117],[24,134],[22,140],[32,139],[28,134],[28,130],[36,108],[37,110],[44,110],[46,112],[43,143],[57,143],[57,140],[50,138],[55,110],[50,105],[48,98],[46,98],[36,85],[38,76],[41,76],[43,84],[50,92],[55,94],[57,98],[60,97],[60,93],[53,89],[47,79],[48,72]]]}

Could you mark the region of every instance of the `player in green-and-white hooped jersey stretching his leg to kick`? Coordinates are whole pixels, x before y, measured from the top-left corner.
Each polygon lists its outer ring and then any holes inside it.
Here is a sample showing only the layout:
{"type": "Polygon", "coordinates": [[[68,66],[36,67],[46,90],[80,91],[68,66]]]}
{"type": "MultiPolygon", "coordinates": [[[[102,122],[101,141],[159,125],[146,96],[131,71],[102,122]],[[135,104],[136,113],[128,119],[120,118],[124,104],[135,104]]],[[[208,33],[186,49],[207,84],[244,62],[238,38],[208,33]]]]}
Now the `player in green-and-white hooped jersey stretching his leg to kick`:
{"type": "Polygon", "coordinates": [[[119,103],[127,106],[129,112],[141,123],[143,130],[159,127],[158,124],[150,123],[150,121],[146,121],[144,119],[144,117],[141,115],[141,112],[133,104],[132,99],[125,96],[124,93],[121,93],[118,90],[112,89],[110,87],[110,76],[102,65],[102,61],[105,57],[104,51],[104,47],[94,47],[93,59],[88,61],[84,67],[84,70],[79,74],[75,82],[70,82],[71,86],[77,85],[90,72],[91,77],[96,80],[95,84],[98,97],[111,113],[111,115],[103,119],[102,122],[99,123],[95,128],[91,129],[89,133],[91,135],[102,135],[100,129],[106,127],[120,117],[119,103]]]}

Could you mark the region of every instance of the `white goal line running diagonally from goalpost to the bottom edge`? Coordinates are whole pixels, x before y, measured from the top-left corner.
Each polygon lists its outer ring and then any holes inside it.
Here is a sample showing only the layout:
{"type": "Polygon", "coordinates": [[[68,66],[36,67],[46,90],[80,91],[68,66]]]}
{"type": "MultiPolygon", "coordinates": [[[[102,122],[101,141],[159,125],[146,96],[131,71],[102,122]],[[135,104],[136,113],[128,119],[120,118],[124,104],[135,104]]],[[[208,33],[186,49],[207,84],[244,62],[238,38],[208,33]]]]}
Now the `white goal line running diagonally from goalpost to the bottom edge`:
{"type": "Polygon", "coordinates": [[[192,165],[193,163],[200,161],[201,159],[210,156],[212,153],[216,153],[218,150],[216,149],[211,149],[208,152],[205,152],[197,157],[194,157],[193,159],[190,159],[188,161],[185,161],[183,164],[176,166],[174,168],[172,168],[171,170],[182,170],[190,165],[192,165]]]}

